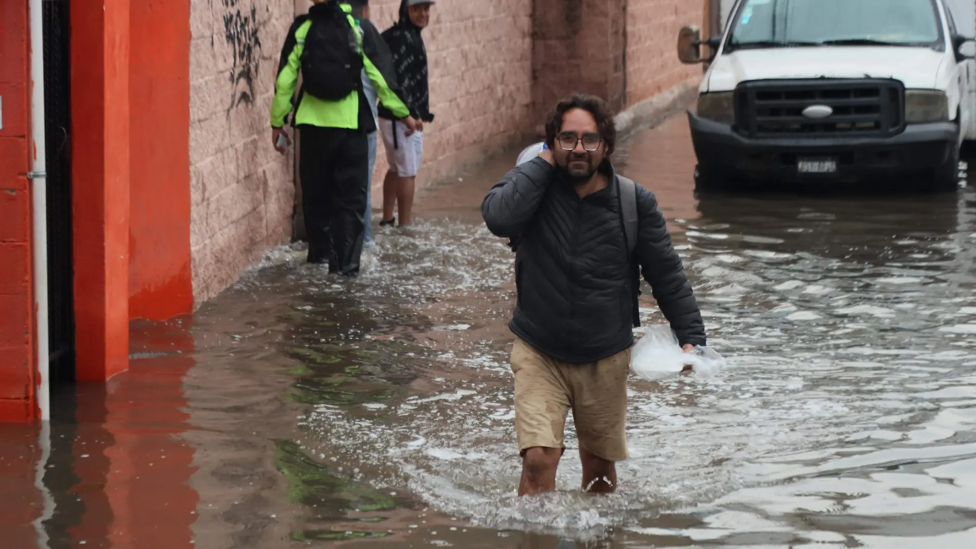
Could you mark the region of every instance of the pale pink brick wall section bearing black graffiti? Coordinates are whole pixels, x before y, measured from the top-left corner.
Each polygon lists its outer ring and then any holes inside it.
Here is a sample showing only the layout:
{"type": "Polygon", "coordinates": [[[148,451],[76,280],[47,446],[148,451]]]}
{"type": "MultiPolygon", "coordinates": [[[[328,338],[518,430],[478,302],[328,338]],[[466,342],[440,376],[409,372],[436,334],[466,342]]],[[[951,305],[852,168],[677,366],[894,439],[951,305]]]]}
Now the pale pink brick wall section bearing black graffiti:
{"type": "Polygon", "coordinates": [[[191,0],[193,297],[210,299],[292,232],[290,157],[270,145],[278,55],[292,0],[191,0]]]}

